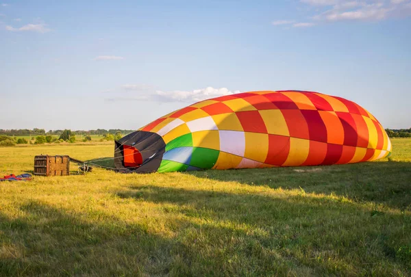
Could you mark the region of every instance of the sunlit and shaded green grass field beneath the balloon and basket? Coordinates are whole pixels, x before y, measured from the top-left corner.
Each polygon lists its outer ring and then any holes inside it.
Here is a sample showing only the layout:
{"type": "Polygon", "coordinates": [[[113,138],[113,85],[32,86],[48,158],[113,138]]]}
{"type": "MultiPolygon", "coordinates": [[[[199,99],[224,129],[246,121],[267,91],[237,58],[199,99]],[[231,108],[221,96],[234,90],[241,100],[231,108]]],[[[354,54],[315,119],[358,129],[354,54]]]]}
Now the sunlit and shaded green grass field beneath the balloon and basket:
{"type": "MultiPolygon", "coordinates": [[[[410,276],[411,140],[392,142],[343,166],[2,182],[0,276],[410,276]]],[[[0,175],[113,148],[0,148],[0,175]]]]}

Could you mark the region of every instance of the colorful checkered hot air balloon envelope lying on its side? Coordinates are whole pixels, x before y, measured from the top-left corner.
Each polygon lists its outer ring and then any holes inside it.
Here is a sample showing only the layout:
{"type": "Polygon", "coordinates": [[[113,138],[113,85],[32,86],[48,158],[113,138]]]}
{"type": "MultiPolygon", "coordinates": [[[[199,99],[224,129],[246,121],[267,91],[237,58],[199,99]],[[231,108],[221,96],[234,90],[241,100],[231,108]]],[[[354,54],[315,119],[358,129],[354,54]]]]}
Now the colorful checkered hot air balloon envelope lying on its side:
{"type": "Polygon", "coordinates": [[[123,172],[175,172],[373,161],[391,153],[356,103],[318,92],[245,92],[173,111],[116,142],[123,172]]]}

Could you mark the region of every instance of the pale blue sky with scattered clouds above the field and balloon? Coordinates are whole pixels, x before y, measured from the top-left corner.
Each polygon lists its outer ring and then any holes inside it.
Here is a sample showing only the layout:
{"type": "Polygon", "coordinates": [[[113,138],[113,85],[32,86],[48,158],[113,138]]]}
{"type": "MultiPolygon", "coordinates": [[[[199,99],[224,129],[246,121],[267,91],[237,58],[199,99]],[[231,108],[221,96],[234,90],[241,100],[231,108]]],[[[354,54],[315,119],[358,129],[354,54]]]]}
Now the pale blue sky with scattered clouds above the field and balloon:
{"type": "Polygon", "coordinates": [[[138,129],[251,90],[410,128],[410,88],[411,0],[0,0],[0,129],[138,129]]]}

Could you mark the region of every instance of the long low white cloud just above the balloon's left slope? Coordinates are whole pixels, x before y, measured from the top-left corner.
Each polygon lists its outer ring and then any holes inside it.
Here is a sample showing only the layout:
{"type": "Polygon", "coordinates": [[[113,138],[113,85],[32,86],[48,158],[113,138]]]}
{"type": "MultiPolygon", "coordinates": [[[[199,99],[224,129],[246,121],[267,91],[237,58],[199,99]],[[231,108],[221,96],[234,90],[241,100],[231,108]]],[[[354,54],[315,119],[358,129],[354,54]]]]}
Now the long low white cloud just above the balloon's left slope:
{"type": "MultiPolygon", "coordinates": [[[[128,92],[126,96],[106,98],[106,101],[156,101],[156,102],[186,102],[194,103],[208,98],[239,93],[239,90],[227,88],[202,88],[199,90],[155,90],[151,85],[122,85],[121,88],[128,92]]],[[[108,91],[112,92],[112,90],[108,91]]]]}

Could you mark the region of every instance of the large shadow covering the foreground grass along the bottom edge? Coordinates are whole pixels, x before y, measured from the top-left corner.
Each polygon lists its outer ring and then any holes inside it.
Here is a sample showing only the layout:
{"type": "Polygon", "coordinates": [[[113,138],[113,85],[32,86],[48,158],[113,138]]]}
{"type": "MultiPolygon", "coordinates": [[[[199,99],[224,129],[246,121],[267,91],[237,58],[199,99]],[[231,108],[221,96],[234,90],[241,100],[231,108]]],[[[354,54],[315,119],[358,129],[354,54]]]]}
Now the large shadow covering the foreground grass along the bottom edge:
{"type": "MultiPolygon", "coordinates": [[[[352,203],[305,196],[152,185],[113,197],[119,206],[145,203],[149,215],[125,221],[98,207],[74,212],[34,200],[16,205],[12,217],[0,211],[0,276],[406,276],[410,270],[401,232],[409,233],[411,222],[403,215],[373,216],[352,203]]],[[[131,206],[119,209],[125,207],[131,206]]]]}

